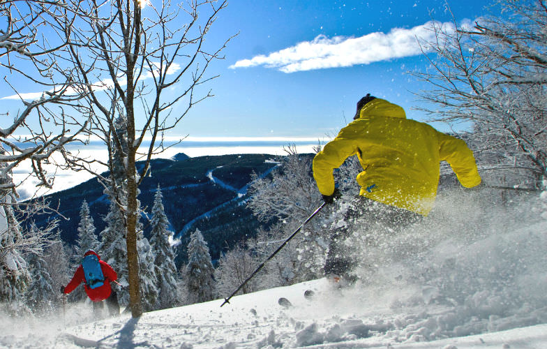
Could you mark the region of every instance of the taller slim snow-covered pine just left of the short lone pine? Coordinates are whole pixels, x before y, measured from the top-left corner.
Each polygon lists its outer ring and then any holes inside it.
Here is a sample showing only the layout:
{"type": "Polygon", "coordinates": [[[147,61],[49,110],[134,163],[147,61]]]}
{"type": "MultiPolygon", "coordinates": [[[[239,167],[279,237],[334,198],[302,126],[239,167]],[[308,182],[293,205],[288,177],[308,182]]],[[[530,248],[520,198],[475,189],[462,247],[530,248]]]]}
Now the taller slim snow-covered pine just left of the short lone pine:
{"type": "Polygon", "coordinates": [[[156,254],[154,265],[156,266],[156,282],[159,292],[157,309],[172,308],[179,303],[177,267],[174,264],[174,251],[169,242],[169,238],[173,234],[169,230],[169,221],[165,216],[162,198],[161,188],[158,184],[158,191],[156,191],[152,207],[150,236],[152,251],[156,254]]]}

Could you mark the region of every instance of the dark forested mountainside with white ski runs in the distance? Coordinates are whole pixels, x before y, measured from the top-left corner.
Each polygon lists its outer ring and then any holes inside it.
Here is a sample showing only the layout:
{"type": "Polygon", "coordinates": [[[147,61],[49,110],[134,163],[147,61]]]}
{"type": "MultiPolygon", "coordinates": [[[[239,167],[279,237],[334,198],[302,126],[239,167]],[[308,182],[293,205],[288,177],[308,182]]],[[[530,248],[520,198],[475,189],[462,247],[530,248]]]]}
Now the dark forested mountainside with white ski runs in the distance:
{"type": "MultiPolygon", "coordinates": [[[[137,163],[137,165],[139,165],[137,163]]],[[[247,186],[251,174],[267,175],[276,168],[274,156],[267,154],[241,154],[200,156],[190,158],[178,154],[173,159],[155,159],[151,174],[140,186],[139,199],[145,214],[141,221],[145,235],[148,233],[147,214],[153,203],[158,184],[163,194],[165,214],[172,225],[175,237],[181,239],[177,251],[177,265],[186,260],[186,238],[196,228],[209,244],[211,258],[218,259],[220,252],[232,248],[247,236],[255,235],[260,222],[246,208],[247,186]],[[186,234],[188,233],[188,234],[186,234]]],[[[109,202],[96,179],[91,179],[65,191],[47,195],[52,206],[59,203],[61,239],[74,244],[80,221],[80,207],[84,200],[96,227],[96,234],[105,228],[103,217],[109,202]]],[[[42,217],[38,225],[52,216],[42,217]]]]}

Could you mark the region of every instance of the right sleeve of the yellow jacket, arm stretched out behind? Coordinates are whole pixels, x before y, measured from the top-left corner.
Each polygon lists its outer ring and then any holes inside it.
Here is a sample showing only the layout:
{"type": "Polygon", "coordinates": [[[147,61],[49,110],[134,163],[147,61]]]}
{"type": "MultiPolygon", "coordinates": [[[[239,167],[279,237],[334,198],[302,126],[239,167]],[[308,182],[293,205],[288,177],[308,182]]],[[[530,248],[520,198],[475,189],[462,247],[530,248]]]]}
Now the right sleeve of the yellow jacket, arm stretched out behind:
{"type": "Polygon", "coordinates": [[[477,163],[467,144],[463,140],[444,133],[438,133],[437,138],[439,140],[440,160],[449,163],[462,186],[472,188],[481,184],[477,163]]]}

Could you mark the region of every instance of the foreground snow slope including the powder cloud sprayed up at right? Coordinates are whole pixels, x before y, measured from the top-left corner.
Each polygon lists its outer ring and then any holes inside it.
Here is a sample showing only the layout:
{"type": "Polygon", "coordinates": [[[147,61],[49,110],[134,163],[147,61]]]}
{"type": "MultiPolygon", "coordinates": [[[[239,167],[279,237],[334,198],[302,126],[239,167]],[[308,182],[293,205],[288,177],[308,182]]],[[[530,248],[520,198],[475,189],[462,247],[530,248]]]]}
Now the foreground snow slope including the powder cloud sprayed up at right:
{"type": "Polygon", "coordinates": [[[547,348],[541,209],[495,212],[469,199],[443,209],[440,198],[419,226],[364,248],[368,268],[351,288],[319,279],[136,320],[93,322],[89,308],[70,306],[66,325],[62,312],[57,320],[0,319],[0,349],[78,348],[74,339],[97,348],[547,348]]]}

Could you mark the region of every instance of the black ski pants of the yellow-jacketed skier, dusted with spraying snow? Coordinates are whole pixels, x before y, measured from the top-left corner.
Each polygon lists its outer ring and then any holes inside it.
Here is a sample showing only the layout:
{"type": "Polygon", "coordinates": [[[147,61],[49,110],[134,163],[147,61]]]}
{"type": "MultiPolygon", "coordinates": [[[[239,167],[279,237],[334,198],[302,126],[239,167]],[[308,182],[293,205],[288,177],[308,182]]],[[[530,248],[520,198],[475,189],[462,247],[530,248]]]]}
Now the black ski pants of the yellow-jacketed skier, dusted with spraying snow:
{"type": "Polygon", "coordinates": [[[345,214],[334,222],[331,242],[324,265],[324,274],[337,275],[354,281],[352,269],[359,264],[359,249],[373,244],[375,237],[394,234],[420,221],[422,216],[407,209],[382,204],[358,195],[345,214]],[[352,236],[359,234],[359,238],[352,236]]]}

